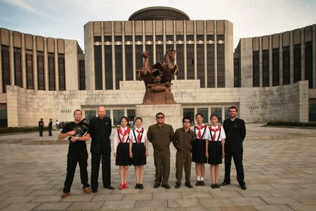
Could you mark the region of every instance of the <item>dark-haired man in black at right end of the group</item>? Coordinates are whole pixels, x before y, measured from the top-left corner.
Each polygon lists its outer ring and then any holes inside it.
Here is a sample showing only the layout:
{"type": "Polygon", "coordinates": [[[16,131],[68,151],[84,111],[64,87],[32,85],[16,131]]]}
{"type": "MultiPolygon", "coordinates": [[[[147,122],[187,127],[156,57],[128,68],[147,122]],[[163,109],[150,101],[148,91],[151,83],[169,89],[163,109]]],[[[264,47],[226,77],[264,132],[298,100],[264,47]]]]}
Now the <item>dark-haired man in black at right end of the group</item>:
{"type": "Polygon", "coordinates": [[[238,119],[237,108],[231,106],[228,110],[230,118],[224,120],[223,127],[226,134],[225,139],[225,179],[222,186],[230,184],[230,166],[232,165],[232,158],[235,162],[237,181],[239,186],[246,190],[246,184],[244,183],[244,167],[242,165],[242,142],[246,137],[246,126],[244,120],[238,119]]]}

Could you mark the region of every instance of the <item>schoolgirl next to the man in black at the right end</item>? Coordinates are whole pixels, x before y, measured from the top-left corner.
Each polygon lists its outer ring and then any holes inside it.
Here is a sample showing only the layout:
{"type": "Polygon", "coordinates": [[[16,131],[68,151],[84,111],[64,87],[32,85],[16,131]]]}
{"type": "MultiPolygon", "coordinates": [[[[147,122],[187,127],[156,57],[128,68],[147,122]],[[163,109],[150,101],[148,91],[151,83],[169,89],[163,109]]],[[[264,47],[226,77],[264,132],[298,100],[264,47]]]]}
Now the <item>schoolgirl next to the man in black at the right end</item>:
{"type": "Polygon", "coordinates": [[[211,187],[219,188],[218,175],[219,165],[224,158],[224,143],[225,143],[225,131],[223,127],[218,125],[218,115],[211,115],[211,126],[209,127],[210,137],[206,141],[206,158],[207,162],[211,165],[211,187]]]}

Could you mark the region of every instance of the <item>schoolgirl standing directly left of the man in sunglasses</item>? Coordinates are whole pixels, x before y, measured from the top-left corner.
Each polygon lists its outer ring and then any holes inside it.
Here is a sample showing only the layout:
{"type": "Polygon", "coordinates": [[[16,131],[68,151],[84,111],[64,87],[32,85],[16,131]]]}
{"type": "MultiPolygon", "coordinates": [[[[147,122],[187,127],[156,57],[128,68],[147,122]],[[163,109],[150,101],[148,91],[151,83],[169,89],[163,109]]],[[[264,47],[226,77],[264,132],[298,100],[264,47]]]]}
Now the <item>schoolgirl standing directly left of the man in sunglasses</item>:
{"type": "Polygon", "coordinates": [[[136,189],[143,189],[144,165],[148,157],[147,131],[142,127],[143,119],[136,117],[135,128],[129,132],[129,157],[135,166],[136,189]]]}

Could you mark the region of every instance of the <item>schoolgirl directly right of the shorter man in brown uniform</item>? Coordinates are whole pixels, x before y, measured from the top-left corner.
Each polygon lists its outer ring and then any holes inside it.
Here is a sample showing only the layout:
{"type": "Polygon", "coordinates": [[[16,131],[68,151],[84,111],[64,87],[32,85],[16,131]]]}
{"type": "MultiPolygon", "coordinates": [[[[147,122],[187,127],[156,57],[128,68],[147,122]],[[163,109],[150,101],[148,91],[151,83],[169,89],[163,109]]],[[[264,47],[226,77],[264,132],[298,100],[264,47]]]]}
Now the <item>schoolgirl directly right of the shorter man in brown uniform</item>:
{"type": "Polygon", "coordinates": [[[197,174],[197,183],[195,185],[205,186],[204,163],[207,163],[205,149],[206,139],[209,138],[209,128],[206,126],[206,124],[203,124],[202,113],[197,113],[195,115],[195,120],[197,120],[197,124],[195,124],[195,126],[192,128],[192,131],[195,132],[195,141],[192,143],[192,161],[195,162],[195,173],[197,174]]]}

